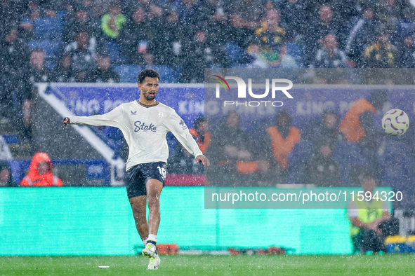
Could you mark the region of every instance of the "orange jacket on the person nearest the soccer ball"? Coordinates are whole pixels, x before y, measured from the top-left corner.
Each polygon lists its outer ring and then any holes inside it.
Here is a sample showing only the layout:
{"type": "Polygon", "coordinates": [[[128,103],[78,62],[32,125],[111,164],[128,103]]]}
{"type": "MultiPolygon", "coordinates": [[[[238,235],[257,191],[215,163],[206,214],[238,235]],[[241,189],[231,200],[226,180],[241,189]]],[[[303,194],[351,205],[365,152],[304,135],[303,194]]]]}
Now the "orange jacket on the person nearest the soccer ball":
{"type": "Polygon", "coordinates": [[[348,142],[360,142],[366,134],[360,123],[360,114],[366,111],[375,113],[376,109],[367,101],[367,99],[357,99],[345,113],[343,121],[338,129],[343,132],[345,139],[348,140],[348,142]]]}

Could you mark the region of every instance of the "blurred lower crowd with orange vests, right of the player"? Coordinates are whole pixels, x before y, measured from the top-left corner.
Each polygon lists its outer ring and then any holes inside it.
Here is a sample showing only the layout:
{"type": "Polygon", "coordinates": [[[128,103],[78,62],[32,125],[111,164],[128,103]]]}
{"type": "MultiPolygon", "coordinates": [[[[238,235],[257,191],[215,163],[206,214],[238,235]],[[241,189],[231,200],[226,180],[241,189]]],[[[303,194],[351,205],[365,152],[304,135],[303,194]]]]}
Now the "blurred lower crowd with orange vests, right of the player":
{"type": "MultiPolygon", "coordinates": [[[[370,176],[405,193],[405,204],[415,202],[414,133],[390,137],[377,128],[375,115],[386,102],[386,90],[376,90],[356,99],[343,117],[327,109],[320,120],[301,125],[294,125],[291,114],[280,109],[274,118],[254,118],[258,124],[251,132],[245,130],[246,122],[242,125],[237,111],[229,111],[209,128],[209,121],[199,117],[191,133],[211,159],[211,167],[206,168],[211,185],[361,186],[370,176]]],[[[169,160],[169,172],[203,172],[190,153],[180,144],[178,148],[169,160]]]]}

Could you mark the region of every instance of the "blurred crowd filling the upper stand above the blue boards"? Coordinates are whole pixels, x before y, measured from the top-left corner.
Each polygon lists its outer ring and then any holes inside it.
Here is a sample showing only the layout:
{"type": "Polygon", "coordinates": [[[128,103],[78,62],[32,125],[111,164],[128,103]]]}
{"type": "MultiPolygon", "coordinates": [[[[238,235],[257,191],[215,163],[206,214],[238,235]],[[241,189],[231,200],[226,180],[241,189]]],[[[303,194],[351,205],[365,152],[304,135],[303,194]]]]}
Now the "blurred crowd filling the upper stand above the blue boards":
{"type": "Polygon", "coordinates": [[[34,83],[119,82],[114,64],[183,83],[211,67],[415,67],[407,0],[3,0],[0,18],[0,118],[25,139],[34,83]]]}

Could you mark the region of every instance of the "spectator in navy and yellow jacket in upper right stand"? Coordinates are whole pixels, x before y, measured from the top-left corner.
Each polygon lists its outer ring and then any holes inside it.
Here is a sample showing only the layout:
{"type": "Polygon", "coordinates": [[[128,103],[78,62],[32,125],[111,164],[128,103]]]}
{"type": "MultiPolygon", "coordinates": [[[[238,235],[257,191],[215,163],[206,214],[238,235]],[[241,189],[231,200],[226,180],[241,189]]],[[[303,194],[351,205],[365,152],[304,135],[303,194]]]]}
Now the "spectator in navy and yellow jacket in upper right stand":
{"type": "Polygon", "coordinates": [[[397,49],[389,41],[390,35],[383,26],[376,29],[376,40],[364,50],[365,68],[395,68],[397,49]]]}

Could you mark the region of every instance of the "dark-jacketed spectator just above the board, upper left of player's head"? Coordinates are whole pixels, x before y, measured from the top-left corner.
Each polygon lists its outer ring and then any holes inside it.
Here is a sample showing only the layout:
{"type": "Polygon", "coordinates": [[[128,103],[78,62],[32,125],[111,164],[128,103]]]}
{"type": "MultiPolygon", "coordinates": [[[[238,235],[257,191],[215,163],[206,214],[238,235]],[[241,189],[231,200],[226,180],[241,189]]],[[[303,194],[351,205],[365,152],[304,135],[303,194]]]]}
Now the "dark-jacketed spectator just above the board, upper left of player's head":
{"type": "Polygon", "coordinates": [[[98,67],[86,75],[88,83],[119,83],[119,75],[111,65],[109,55],[101,54],[97,58],[98,67]]]}

